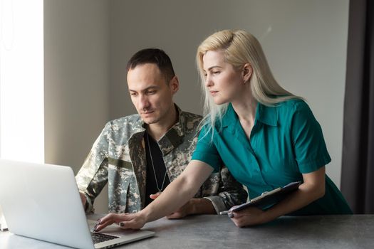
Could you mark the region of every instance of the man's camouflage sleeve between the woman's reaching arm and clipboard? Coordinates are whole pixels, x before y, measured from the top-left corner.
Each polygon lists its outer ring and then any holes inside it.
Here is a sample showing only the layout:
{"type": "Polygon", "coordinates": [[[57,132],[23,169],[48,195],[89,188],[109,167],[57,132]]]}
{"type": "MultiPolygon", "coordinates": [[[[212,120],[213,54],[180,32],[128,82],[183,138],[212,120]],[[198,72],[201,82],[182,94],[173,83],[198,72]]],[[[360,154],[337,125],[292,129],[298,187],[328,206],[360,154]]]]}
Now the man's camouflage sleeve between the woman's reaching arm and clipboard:
{"type": "Polygon", "coordinates": [[[212,201],[214,209],[217,213],[229,210],[232,206],[239,205],[246,202],[248,197],[242,184],[237,182],[226,166],[222,166],[219,173],[212,174],[212,176],[202,186],[202,196],[212,201]],[[215,175],[215,176],[214,176],[215,175]],[[216,179],[214,179],[216,178],[216,179]],[[206,196],[204,190],[214,184],[209,181],[217,181],[219,179],[218,195],[206,196]]]}

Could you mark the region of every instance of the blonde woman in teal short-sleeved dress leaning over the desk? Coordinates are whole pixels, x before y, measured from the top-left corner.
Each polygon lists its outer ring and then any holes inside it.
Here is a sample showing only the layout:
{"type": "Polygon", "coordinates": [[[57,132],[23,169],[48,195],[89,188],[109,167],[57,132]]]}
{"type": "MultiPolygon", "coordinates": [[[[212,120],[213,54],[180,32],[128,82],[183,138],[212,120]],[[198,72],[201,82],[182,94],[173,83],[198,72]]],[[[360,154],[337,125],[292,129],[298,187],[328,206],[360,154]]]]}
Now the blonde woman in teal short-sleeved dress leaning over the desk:
{"type": "Polygon", "coordinates": [[[205,94],[202,130],[185,171],[149,206],[133,214],[109,214],[111,223],[141,228],[180,208],[223,163],[249,189],[251,198],[292,181],[298,190],[266,210],[234,212],[241,226],[279,216],[352,213],[326,176],[331,159],[321,127],[306,102],[274,79],[259,42],[246,31],[219,31],[197,49],[205,94]]]}

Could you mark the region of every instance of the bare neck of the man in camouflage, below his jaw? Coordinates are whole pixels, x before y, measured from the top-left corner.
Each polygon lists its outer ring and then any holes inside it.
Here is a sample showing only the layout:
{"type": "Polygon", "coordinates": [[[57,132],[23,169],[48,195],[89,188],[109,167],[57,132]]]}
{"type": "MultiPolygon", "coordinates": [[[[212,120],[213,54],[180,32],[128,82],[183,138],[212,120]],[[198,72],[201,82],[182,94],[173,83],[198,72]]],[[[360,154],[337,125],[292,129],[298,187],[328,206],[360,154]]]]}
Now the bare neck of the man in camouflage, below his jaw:
{"type": "Polygon", "coordinates": [[[147,125],[148,134],[150,134],[150,136],[156,141],[160,140],[160,138],[163,137],[165,133],[178,122],[178,113],[176,107],[173,105],[170,109],[170,115],[167,115],[167,117],[155,124],[147,125]]]}

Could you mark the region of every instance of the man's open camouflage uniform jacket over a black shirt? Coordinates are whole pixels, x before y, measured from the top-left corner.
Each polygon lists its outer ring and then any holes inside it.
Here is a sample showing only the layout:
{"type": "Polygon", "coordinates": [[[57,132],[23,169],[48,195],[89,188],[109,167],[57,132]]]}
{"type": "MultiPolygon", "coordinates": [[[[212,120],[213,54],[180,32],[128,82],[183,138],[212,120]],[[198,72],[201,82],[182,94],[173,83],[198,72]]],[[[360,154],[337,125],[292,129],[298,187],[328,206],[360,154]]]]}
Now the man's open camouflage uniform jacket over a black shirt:
{"type": "MultiPolygon", "coordinates": [[[[177,107],[177,122],[158,141],[167,175],[174,181],[187,166],[197,142],[196,127],[201,117],[177,107]]],[[[107,182],[110,213],[135,213],[144,208],[146,158],[143,140],[145,124],[139,115],[108,122],[76,176],[78,188],[85,193],[85,211],[93,211],[93,201],[107,182]]],[[[226,167],[212,174],[195,198],[208,198],[217,211],[246,201],[246,191],[226,167]]]]}

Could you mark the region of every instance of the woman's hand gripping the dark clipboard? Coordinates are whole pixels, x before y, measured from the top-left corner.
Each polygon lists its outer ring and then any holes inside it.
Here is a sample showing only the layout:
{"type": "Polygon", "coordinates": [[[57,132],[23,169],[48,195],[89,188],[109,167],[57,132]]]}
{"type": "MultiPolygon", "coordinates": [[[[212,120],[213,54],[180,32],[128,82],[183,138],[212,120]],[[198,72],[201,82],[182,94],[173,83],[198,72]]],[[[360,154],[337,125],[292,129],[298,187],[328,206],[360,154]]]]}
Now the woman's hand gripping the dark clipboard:
{"type": "Polygon", "coordinates": [[[266,211],[259,208],[249,207],[241,211],[232,212],[232,221],[236,226],[242,228],[244,226],[254,226],[266,222],[266,211]]]}

